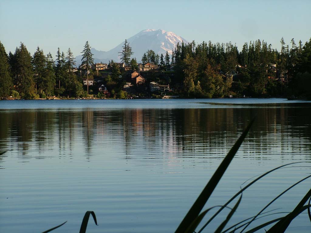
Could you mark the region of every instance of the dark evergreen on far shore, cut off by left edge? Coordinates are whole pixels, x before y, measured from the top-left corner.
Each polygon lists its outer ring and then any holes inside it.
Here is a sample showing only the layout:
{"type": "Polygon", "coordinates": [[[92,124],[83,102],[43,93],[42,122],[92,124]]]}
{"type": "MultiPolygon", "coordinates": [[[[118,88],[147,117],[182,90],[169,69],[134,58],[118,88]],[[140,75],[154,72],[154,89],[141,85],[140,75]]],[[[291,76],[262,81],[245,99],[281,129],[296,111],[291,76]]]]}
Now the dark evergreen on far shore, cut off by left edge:
{"type": "Polygon", "coordinates": [[[8,56],[0,41],[0,98],[8,97],[11,93],[12,78],[9,70],[8,56]]]}

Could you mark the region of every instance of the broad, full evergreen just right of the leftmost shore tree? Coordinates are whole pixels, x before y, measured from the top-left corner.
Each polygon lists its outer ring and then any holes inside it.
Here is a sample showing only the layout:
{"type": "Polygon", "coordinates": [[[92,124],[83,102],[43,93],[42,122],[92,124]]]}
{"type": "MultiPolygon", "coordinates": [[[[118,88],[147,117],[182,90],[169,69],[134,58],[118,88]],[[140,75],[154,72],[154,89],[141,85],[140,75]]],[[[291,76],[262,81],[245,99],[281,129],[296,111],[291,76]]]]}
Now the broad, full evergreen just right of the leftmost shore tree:
{"type": "Polygon", "coordinates": [[[35,82],[33,80],[33,71],[31,66],[31,56],[26,46],[21,43],[15,51],[16,57],[16,87],[22,98],[35,99],[38,96],[35,93],[35,82]]]}

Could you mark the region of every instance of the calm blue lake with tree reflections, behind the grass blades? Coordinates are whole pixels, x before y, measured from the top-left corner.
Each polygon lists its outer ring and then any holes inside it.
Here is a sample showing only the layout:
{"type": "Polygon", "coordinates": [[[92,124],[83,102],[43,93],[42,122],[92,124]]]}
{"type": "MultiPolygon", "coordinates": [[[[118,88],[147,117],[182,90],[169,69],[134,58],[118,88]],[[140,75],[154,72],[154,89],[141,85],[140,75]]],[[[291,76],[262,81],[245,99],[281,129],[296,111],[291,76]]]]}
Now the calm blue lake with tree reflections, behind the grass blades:
{"type": "MultiPolygon", "coordinates": [[[[310,101],[281,98],[0,101],[0,151],[7,151],[0,156],[0,232],[42,232],[65,221],[52,232],[78,232],[88,210],[99,226],[90,219],[87,232],[174,232],[256,117],[205,209],[224,204],[249,178],[306,163],[243,192],[231,226],[310,175],[310,116],[310,101]]],[[[267,211],[291,211],[310,184],[300,183],[267,211]]],[[[305,211],[286,232],[310,226],[305,211]]]]}

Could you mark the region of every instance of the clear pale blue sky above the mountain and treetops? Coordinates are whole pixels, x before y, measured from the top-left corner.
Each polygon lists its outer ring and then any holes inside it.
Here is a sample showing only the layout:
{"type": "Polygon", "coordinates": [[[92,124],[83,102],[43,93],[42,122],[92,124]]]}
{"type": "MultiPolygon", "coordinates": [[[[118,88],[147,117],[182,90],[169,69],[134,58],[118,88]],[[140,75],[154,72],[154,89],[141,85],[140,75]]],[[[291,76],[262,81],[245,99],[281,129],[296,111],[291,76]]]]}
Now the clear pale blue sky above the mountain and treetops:
{"type": "Polygon", "coordinates": [[[54,56],[57,48],[80,55],[86,40],[107,51],[145,29],[172,31],[188,41],[264,39],[280,48],[311,37],[311,1],[0,1],[0,41],[7,52],[20,42],[54,56]]]}

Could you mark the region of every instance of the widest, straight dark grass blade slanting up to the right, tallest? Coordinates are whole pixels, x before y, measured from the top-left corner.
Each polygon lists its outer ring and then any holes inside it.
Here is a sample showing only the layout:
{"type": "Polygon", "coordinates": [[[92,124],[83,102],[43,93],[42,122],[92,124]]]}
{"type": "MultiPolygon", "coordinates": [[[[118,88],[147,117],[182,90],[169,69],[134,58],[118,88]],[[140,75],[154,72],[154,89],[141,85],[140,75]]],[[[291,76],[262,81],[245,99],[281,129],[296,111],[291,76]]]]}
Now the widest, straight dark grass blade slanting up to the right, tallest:
{"type": "Polygon", "coordinates": [[[235,142],[233,147],[230,149],[229,153],[220,163],[219,167],[215,171],[214,175],[211,177],[210,181],[207,183],[205,188],[202,190],[201,194],[198,196],[197,200],[193,203],[193,206],[190,208],[186,216],[184,217],[183,221],[179,224],[178,228],[176,229],[175,233],[184,232],[185,229],[190,226],[190,224],[197,218],[199,213],[201,212],[202,208],[204,207],[205,203],[211,196],[212,192],[216,188],[219,180],[225,173],[226,169],[228,168],[230,162],[232,161],[235,153],[238,151],[240,145],[244,141],[250,127],[252,126],[254,119],[248,124],[242,135],[239,139],[235,142]]]}

